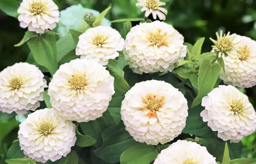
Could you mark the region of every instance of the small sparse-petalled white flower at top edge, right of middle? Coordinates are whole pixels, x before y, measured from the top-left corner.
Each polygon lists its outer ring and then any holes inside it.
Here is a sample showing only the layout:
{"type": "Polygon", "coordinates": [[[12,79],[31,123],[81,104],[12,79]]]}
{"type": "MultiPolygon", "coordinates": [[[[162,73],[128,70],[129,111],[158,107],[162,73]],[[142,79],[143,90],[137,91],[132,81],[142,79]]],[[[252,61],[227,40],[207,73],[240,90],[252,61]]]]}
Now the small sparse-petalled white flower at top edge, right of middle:
{"type": "Polygon", "coordinates": [[[163,7],[165,2],[160,2],[159,0],[138,0],[136,6],[141,6],[141,12],[145,12],[145,17],[148,17],[152,13],[153,18],[156,20],[156,15],[160,20],[165,20],[165,15],[167,15],[167,10],[163,7]]]}

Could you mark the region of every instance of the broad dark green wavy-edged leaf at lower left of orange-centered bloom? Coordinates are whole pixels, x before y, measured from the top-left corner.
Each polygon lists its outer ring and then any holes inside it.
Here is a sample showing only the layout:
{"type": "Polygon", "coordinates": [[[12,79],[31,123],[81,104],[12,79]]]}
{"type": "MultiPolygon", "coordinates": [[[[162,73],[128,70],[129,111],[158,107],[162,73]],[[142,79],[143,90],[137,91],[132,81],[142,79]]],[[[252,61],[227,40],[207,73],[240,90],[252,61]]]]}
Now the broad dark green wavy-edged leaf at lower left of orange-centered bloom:
{"type": "Polygon", "coordinates": [[[125,130],[123,122],[104,130],[102,138],[103,145],[94,153],[107,163],[119,162],[122,152],[137,143],[125,130]]]}

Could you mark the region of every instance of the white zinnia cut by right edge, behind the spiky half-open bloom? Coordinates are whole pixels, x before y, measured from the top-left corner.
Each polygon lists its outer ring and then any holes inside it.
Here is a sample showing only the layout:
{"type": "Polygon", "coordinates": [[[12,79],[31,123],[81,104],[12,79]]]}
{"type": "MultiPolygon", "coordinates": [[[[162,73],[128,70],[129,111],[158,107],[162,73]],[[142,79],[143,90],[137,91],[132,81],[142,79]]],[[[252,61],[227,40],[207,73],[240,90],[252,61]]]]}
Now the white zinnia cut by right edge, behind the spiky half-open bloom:
{"type": "Polygon", "coordinates": [[[232,51],[223,57],[225,72],[222,70],[220,79],[225,84],[241,88],[256,85],[256,42],[249,37],[233,34],[236,43],[232,51]]]}

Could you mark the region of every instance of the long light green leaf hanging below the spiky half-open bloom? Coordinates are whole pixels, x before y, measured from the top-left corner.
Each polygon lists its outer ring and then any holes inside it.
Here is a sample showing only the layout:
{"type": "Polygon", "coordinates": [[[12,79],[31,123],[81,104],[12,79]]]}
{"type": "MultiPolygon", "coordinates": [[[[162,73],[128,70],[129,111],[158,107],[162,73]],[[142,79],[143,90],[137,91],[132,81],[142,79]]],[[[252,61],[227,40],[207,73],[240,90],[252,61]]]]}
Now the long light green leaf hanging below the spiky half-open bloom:
{"type": "Polygon", "coordinates": [[[201,100],[212,91],[221,71],[219,63],[211,64],[210,60],[204,60],[199,66],[198,95],[192,103],[192,107],[201,103],[201,100]]]}

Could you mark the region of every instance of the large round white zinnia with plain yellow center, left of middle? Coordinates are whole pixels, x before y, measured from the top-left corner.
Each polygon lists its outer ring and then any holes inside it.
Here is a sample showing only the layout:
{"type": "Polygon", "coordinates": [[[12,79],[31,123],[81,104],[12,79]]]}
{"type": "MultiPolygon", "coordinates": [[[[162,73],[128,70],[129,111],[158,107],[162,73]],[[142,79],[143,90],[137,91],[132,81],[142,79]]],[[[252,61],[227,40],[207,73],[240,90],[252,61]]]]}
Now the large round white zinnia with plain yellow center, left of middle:
{"type": "Polygon", "coordinates": [[[114,77],[106,67],[88,59],[61,65],[48,91],[54,109],[65,119],[77,122],[101,117],[114,93],[114,77]]]}

